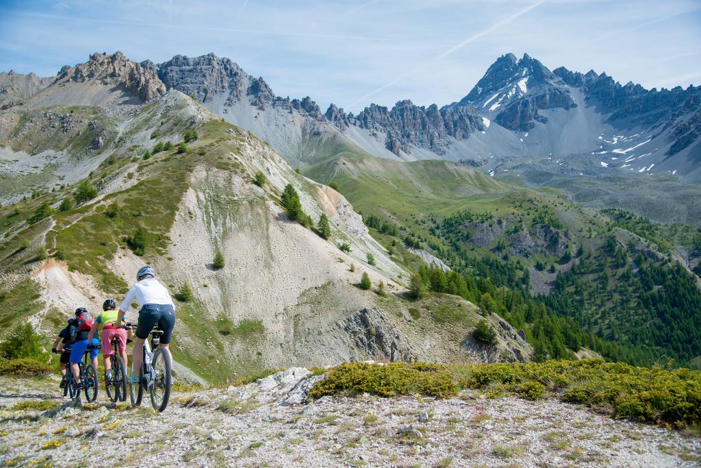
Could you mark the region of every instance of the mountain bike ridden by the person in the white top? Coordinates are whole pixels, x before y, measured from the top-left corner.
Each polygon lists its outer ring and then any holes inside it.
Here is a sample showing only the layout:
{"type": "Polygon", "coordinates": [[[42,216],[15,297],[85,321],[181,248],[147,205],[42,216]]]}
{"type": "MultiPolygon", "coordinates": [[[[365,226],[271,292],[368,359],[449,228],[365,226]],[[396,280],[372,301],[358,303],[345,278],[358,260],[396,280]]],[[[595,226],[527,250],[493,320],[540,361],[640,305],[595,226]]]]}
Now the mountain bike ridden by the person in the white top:
{"type": "MultiPolygon", "coordinates": [[[[136,328],[132,326],[132,328],[136,328]]],[[[163,332],[157,326],[149,333],[149,339],[144,340],[144,359],[139,369],[139,382],[129,382],[129,397],[132,406],[141,406],[144,391],[151,394],[151,406],[159,412],[165,410],[170,398],[170,354],[165,349],[158,347],[161,344],[163,332]],[[152,351],[155,349],[155,351],[152,351]]],[[[134,364],[132,363],[132,375],[134,364]]]]}

